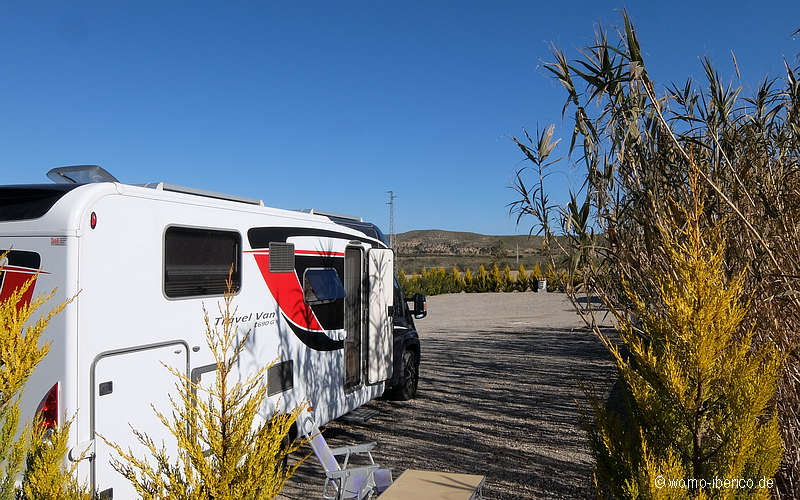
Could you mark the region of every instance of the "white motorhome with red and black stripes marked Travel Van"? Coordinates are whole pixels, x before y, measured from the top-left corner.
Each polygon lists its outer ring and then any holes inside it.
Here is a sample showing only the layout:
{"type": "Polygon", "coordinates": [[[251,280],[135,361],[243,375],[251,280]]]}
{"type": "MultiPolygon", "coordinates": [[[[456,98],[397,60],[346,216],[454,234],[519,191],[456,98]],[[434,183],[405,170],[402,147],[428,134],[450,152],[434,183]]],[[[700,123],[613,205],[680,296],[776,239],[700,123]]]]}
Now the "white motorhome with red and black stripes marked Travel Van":
{"type": "MultiPolygon", "coordinates": [[[[53,169],[53,184],[0,187],[0,298],[35,278],[24,300],[56,289],[74,301],[45,331],[50,353],[28,381],[23,418],[73,419],[70,457],[100,498],[133,498],[105,439],[135,448],[130,426],[169,436],[175,379],[200,384],[216,365],[205,341],[233,269],[234,322],[252,330],[238,360],[267,372],[266,413],[303,401],[320,424],[386,391],[416,392],[419,340],[393,277],[393,253],[358,218],[264,206],[165,183],[129,185],[96,166],[53,169]]],[[[47,308],[45,306],[43,309],[47,308]]]]}

